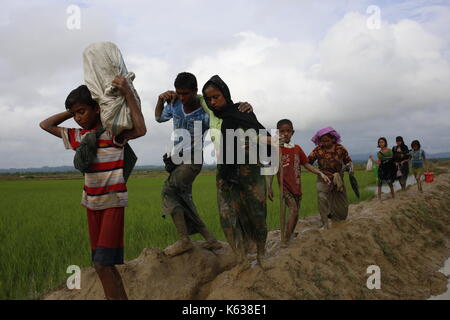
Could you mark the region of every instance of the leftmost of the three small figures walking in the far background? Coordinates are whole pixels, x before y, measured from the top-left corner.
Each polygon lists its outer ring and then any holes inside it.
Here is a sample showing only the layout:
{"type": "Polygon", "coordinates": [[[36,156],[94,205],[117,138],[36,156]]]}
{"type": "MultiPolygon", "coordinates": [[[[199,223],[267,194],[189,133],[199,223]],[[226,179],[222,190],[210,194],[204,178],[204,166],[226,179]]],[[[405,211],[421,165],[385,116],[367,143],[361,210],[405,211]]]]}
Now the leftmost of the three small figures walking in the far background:
{"type": "Polygon", "coordinates": [[[377,153],[378,160],[374,160],[372,155],[370,158],[378,165],[378,200],[381,201],[381,187],[383,183],[386,183],[391,190],[392,198],[395,198],[394,181],[396,166],[393,160],[394,153],[387,146],[387,140],[384,137],[378,139],[378,148],[380,151],[377,153]]]}

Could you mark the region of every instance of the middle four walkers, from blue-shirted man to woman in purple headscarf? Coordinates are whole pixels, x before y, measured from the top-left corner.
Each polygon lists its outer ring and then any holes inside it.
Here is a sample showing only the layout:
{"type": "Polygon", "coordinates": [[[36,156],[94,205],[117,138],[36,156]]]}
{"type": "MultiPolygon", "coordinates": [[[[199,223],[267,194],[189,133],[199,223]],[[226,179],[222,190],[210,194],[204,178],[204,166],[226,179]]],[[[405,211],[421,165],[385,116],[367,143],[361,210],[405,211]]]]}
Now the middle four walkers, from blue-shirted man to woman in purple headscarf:
{"type": "MultiPolygon", "coordinates": [[[[224,154],[230,150],[230,145],[227,145],[228,141],[226,141],[226,130],[265,130],[265,127],[257,120],[252,106],[248,103],[234,103],[228,86],[217,75],[206,82],[201,95],[198,94],[197,80],[191,73],[180,73],[175,79],[174,86],[175,91],[170,90],[159,95],[155,107],[155,119],[158,122],[173,119],[174,130],[183,128],[190,132],[191,145],[184,146],[183,152],[188,150],[193,153],[195,144],[202,143],[202,138],[195,136],[200,133],[195,132],[194,121],[202,122],[202,134],[211,128],[221,133],[221,139],[213,139],[222,143],[216,150],[217,154],[224,154]]],[[[259,139],[281,150],[282,194],[283,201],[289,209],[282,246],[287,246],[298,221],[302,196],[301,165],[318,176],[318,203],[323,228],[329,227],[328,219],[330,218],[345,220],[347,217],[348,200],[342,175],[345,169],[352,171],[353,165],[347,150],[340,144],[340,135],[331,127],[319,130],[313,137],[316,148],[309,157],[300,146],[291,142],[295,131],[289,119],[280,120],[277,123],[277,129],[279,131],[277,137],[270,136],[266,131],[266,134],[260,135],[259,139]],[[315,161],[318,161],[318,169],[312,166],[315,161]]],[[[182,143],[182,140],[175,139],[175,144],[178,143],[182,143]]],[[[245,145],[247,155],[251,150],[249,146],[251,143],[245,145]]],[[[239,148],[237,141],[231,144],[231,149],[239,148]]],[[[171,155],[165,157],[166,163],[170,157],[171,155]]],[[[226,156],[223,155],[223,158],[226,156]]],[[[246,159],[248,160],[249,156],[246,159]]],[[[179,235],[178,241],[165,249],[164,252],[168,256],[176,256],[190,250],[193,245],[189,235],[195,233],[205,238],[205,248],[221,247],[202,222],[192,198],[192,184],[202,164],[188,162],[166,166],[166,168],[169,167],[170,175],[162,191],[163,209],[166,215],[172,217],[179,235]]],[[[252,248],[252,242],[256,246],[256,259],[261,266],[265,253],[266,198],[268,195],[269,199],[273,200],[273,176],[262,175],[262,165],[260,159],[256,163],[245,161],[237,164],[234,161],[231,164],[217,164],[216,187],[220,224],[239,264],[243,267],[249,266],[248,253],[252,248]]],[[[280,181],[280,172],[277,176],[280,181]]]]}

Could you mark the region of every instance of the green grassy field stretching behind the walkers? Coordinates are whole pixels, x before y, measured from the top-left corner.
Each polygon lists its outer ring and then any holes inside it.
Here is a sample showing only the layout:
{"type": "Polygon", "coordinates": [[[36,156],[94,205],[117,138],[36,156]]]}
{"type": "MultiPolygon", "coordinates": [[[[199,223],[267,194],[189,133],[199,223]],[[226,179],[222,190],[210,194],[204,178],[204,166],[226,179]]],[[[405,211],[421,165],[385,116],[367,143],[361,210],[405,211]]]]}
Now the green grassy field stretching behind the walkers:
{"type": "MultiPolygon", "coordinates": [[[[372,172],[357,171],[361,200],[373,193],[372,172]]],[[[125,259],[146,247],[164,248],[176,240],[171,219],[161,217],[164,177],[132,177],[125,218],[125,259]]],[[[317,212],[315,176],[302,175],[301,217],[317,212]]],[[[348,185],[348,179],[345,178],[348,185]]],[[[0,299],[36,299],[65,282],[69,265],[90,266],[86,212],[80,205],[83,180],[2,181],[0,213],[0,299]]],[[[347,187],[350,202],[357,199],[347,187]]],[[[199,176],[194,201],[213,234],[224,240],[219,225],[215,177],[199,176]]],[[[274,192],[278,188],[274,181],[274,192]]],[[[269,229],[278,229],[279,203],[268,203],[269,229]]],[[[194,236],[193,239],[201,239],[194,236]]]]}

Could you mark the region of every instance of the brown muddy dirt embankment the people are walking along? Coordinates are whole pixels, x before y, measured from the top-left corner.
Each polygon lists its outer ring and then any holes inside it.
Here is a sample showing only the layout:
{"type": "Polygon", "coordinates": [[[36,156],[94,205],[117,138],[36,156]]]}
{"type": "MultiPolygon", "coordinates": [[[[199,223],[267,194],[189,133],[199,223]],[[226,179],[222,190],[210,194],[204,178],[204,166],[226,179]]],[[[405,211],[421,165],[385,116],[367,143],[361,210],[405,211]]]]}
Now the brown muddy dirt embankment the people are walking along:
{"type": "MultiPolygon", "coordinates": [[[[130,299],[426,299],[446,290],[438,272],[450,256],[450,174],[424,193],[416,186],[395,200],[350,206],[348,221],[318,230],[319,217],[301,220],[286,249],[269,233],[265,270],[235,267],[228,247],[195,248],[168,258],[144,249],[119,267],[130,299]],[[366,286],[367,267],[381,269],[381,289],[366,286]]],[[[103,299],[93,268],[82,271],[81,290],[61,286],[45,299],[103,299]]]]}

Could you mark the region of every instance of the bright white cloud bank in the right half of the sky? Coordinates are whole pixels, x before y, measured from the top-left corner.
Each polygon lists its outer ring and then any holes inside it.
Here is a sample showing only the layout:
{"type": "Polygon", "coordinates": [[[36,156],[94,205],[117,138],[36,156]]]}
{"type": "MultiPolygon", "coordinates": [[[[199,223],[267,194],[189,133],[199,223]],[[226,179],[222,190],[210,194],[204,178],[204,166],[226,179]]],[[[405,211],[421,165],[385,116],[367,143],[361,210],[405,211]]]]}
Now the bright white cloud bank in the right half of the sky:
{"type": "MultiPolygon", "coordinates": [[[[308,131],[384,119],[371,130],[378,136],[390,131],[390,124],[409,131],[398,120],[416,111],[450,118],[448,108],[436,109],[450,104],[445,43],[412,20],[383,22],[381,29],[370,30],[366,19],[347,14],[318,47],[240,33],[234,45],[195,59],[190,69],[203,83],[211,70],[221,75],[234,100],[252,102],[271,127],[283,117],[308,131]]],[[[448,121],[440,124],[449,127],[448,121]]],[[[412,124],[415,130],[427,125],[418,119],[412,124]]]]}

